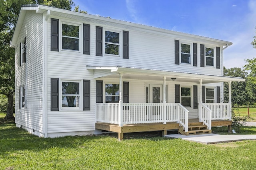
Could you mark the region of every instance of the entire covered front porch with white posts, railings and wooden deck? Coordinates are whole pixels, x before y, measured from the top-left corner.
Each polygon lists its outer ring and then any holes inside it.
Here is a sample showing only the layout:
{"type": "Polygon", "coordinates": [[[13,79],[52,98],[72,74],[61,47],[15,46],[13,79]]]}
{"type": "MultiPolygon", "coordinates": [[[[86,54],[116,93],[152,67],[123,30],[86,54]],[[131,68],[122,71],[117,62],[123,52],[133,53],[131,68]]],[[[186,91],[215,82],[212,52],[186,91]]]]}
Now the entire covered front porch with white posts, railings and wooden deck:
{"type": "MultiPolygon", "coordinates": [[[[202,123],[202,125],[199,126],[205,126],[206,129],[209,130],[208,132],[210,132],[211,127],[214,125],[230,126],[231,82],[244,81],[244,79],[237,77],[142,68],[87,66],[87,69],[94,70],[94,78],[96,80],[100,80],[101,78],[111,80],[119,79],[118,103],[108,103],[102,100],[102,102],[96,103],[95,109],[96,129],[118,132],[120,140],[122,140],[123,133],[127,132],[162,130],[164,135],[167,130],[179,129],[180,127],[182,127],[181,129],[183,129],[184,132],[188,132],[191,129],[190,120],[192,120],[192,117],[189,116],[190,112],[196,113],[198,122],[202,123]],[[153,97],[151,96],[149,100],[147,90],[148,88],[152,89],[154,86],[144,83],[141,84],[141,86],[145,86],[146,88],[146,93],[144,93],[146,99],[141,100],[141,102],[132,102],[131,100],[127,100],[127,96],[125,96],[126,103],[124,103],[123,80],[137,80],[138,82],[140,80],[145,80],[144,82],[158,81],[158,86],[156,86],[156,89],[159,87],[158,90],[156,90],[158,94],[155,95],[154,90],[152,90],[151,95],[153,97]],[[162,83],[160,84],[159,82],[162,83]],[[222,88],[223,92],[223,84],[220,84],[222,82],[228,82],[229,84],[228,103],[223,103],[223,93],[220,96],[220,88],[222,88]],[[168,92],[166,84],[172,87],[175,85],[175,90],[172,88],[175,94],[168,92]],[[188,97],[188,100],[186,99],[187,96],[182,98],[183,96],[180,94],[182,93],[182,87],[180,88],[179,84],[189,84],[190,87],[188,89],[190,91],[188,94],[191,95],[188,97]],[[220,84],[219,88],[215,88],[215,91],[218,91],[219,94],[217,97],[215,95],[214,99],[210,102],[209,100],[208,102],[207,100],[203,100],[205,97],[203,94],[204,85],[208,84],[214,84],[212,86],[220,84]],[[178,88],[176,88],[176,86],[178,88]],[[168,102],[166,98],[167,95],[172,96],[171,100],[168,102]],[[222,98],[222,100],[220,100],[220,98],[222,98]],[[190,106],[184,107],[182,101],[189,101],[187,103],[189,103],[190,106]],[[214,123],[217,121],[218,123],[214,123]]],[[[188,85],[185,85],[185,87],[187,86],[188,85]]],[[[132,90],[133,89],[130,89],[130,91],[132,90]]],[[[101,97],[104,98],[103,95],[101,97]]]]}

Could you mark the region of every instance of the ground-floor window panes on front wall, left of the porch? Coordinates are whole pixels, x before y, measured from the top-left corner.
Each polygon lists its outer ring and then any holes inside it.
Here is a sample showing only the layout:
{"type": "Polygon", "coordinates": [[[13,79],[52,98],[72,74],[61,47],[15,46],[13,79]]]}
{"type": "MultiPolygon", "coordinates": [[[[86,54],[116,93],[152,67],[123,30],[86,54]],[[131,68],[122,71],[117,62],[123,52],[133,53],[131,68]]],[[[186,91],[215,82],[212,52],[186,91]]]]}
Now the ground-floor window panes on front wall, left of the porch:
{"type": "Polygon", "coordinates": [[[79,107],[80,82],[62,81],[62,108],[79,107]]]}

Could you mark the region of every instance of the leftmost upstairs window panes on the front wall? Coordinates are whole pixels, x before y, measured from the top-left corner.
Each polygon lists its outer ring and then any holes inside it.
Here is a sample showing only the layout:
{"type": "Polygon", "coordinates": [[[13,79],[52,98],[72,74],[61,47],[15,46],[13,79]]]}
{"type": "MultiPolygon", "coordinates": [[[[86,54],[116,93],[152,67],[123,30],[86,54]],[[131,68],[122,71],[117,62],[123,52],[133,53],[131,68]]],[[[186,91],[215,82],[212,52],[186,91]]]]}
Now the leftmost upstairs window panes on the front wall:
{"type": "Polygon", "coordinates": [[[62,23],[62,49],[79,51],[79,26],[62,23]]]}

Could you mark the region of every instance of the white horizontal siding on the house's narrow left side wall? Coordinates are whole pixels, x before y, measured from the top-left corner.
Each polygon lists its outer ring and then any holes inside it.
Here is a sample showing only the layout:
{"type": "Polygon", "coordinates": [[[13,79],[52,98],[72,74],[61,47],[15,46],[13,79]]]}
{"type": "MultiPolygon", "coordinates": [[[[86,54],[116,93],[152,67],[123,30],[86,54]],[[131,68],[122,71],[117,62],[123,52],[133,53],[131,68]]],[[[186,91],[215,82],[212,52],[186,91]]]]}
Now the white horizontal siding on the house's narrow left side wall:
{"type": "Polygon", "coordinates": [[[27,12],[17,44],[26,37],[26,63],[19,65],[20,47],[15,59],[15,122],[42,133],[42,14],[27,12]],[[27,84],[26,84],[27,64],[27,84]],[[26,108],[19,109],[19,87],[26,85],[26,108]]]}

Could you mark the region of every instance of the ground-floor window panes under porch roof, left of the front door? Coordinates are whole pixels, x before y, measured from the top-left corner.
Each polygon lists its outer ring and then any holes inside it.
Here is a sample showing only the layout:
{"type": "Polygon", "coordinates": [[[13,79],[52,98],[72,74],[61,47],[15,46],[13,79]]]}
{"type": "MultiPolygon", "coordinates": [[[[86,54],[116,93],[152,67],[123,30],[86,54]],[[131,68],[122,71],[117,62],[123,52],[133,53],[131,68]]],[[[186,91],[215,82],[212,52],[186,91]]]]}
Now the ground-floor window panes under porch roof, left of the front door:
{"type": "Polygon", "coordinates": [[[119,84],[105,84],[106,103],[119,102],[119,84]]]}

